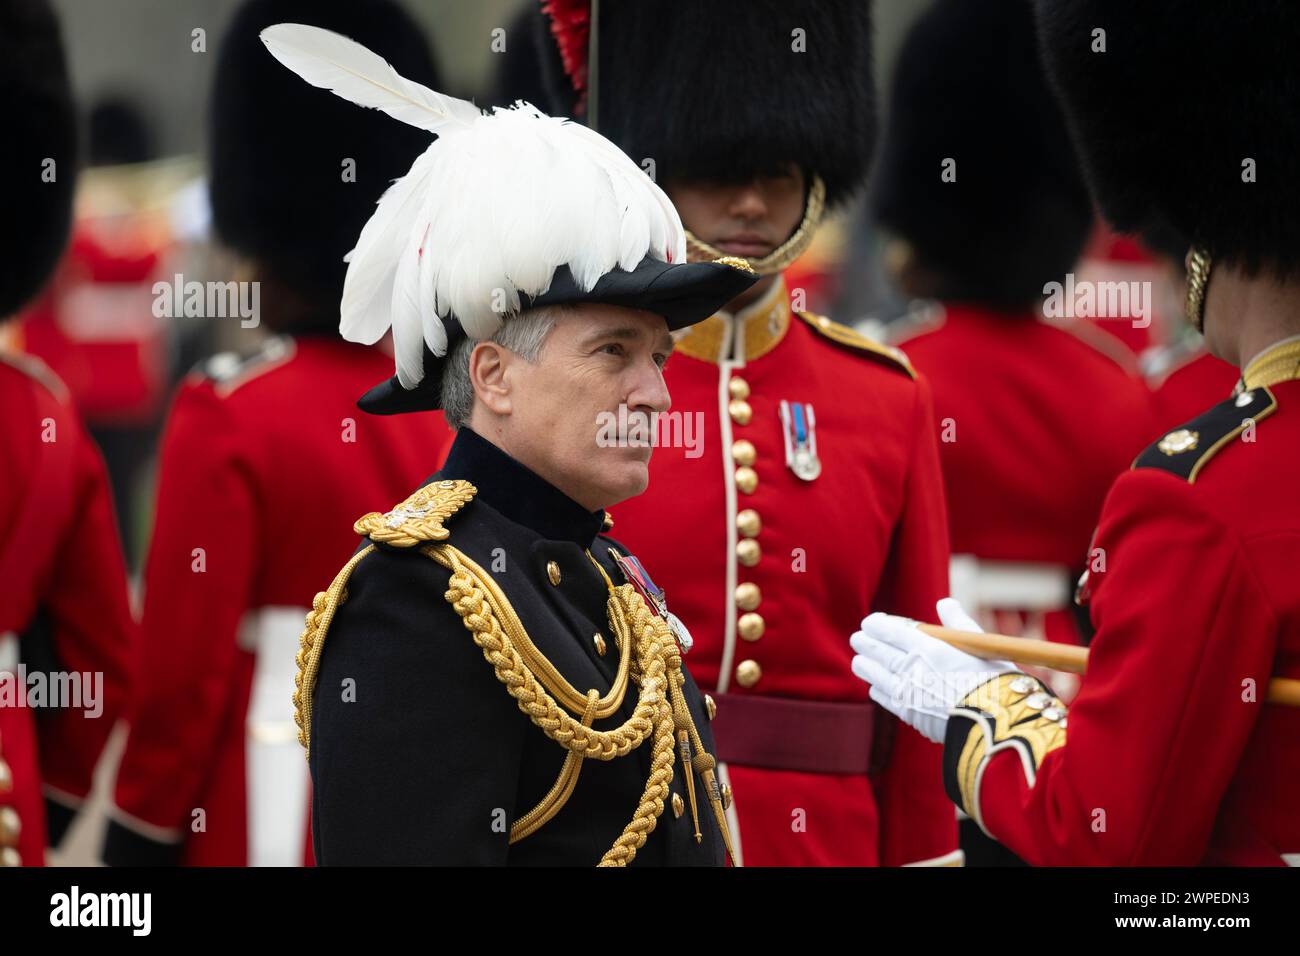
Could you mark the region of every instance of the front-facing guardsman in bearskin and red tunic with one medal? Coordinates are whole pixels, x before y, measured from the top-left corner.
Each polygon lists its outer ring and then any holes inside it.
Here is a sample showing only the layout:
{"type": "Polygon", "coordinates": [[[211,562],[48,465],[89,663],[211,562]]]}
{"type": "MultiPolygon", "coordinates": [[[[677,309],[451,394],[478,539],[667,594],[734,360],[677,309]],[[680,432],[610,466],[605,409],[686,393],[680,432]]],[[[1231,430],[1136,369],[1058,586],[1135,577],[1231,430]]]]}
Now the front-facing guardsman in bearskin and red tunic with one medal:
{"type": "Polygon", "coordinates": [[[957,862],[937,748],[868,701],[844,646],[854,606],[932,618],[946,593],[930,388],[783,281],[866,174],[867,8],[599,10],[597,127],[653,168],[693,256],[763,276],[677,342],[650,490],[612,512],[694,636],[737,857],[957,862]]]}

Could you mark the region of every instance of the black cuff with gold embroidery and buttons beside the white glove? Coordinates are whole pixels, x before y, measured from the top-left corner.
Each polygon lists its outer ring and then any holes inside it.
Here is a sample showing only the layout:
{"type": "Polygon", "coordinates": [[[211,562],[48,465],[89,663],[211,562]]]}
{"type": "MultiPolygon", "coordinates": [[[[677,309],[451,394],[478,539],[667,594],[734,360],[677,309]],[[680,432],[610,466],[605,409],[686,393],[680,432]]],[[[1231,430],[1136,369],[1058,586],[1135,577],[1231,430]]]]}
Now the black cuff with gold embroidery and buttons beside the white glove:
{"type": "Polygon", "coordinates": [[[948,715],[944,790],[984,829],[979,787],[993,754],[1017,750],[1032,787],[1043,758],[1065,745],[1065,705],[1028,674],[1013,671],[980,684],[948,715]]]}

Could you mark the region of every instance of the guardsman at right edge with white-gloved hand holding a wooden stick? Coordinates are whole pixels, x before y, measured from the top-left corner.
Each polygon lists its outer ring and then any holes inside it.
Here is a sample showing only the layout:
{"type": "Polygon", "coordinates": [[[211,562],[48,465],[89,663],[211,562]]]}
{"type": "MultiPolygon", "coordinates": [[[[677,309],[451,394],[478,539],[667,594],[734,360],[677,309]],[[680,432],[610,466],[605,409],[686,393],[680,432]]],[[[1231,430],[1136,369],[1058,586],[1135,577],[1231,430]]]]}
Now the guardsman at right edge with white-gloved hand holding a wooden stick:
{"type": "MultiPolygon", "coordinates": [[[[1188,316],[1242,369],[1235,395],[1150,445],[1106,498],[1079,696],[1067,714],[1009,662],[892,615],[852,637],[872,698],[944,740],[949,795],[1031,864],[1300,862],[1300,708],[1269,696],[1300,678],[1300,221],[1278,215],[1300,206],[1300,12],[1182,8],[1039,3],[1102,212],[1188,237],[1188,316]],[[1210,59],[1218,79],[1187,96],[1210,59]]],[[[941,617],[978,630],[946,602],[941,617]]]]}

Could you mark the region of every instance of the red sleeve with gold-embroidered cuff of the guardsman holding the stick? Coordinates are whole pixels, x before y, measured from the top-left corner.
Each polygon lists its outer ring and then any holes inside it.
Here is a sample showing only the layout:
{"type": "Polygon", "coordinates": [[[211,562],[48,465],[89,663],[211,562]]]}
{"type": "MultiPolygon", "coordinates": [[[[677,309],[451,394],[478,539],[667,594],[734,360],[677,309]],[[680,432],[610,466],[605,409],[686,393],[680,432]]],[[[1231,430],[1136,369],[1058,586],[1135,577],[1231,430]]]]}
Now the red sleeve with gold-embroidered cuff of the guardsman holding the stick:
{"type": "Polygon", "coordinates": [[[1262,706],[1278,620],[1236,532],[1193,494],[1147,470],[1112,490],[1097,533],[1106,559],[1093,585],[1097,635],[1067,730],[1045,747],[1041,718],[1000,734],[994,722],[1005,730],[1009,711],[997,705],[987,719],[949,721],[950,790],[1031,864],[1188,866],[1205,855],[1262,706]],[[968,753],[957,770],[980,723],[1013,745],[984,760],[968,753]]]}

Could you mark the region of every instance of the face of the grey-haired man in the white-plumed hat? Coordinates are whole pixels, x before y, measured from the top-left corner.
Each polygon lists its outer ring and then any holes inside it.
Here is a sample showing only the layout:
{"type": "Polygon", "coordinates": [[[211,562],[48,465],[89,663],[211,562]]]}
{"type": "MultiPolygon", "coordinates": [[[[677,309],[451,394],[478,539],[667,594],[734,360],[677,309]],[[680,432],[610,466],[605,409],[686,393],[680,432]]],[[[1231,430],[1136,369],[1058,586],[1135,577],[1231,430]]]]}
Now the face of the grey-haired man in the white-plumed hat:
{"type": "Polygon", "coordinates": [[[668,325],[653,312],[592,303],[567,311],[536,363],[510,360],[506,428],[515,457],[590,511],[641,494],[650,484],[650,436],[628,442],[611,423],[668,410],[671,351],[668,325]]]}

